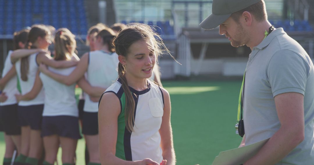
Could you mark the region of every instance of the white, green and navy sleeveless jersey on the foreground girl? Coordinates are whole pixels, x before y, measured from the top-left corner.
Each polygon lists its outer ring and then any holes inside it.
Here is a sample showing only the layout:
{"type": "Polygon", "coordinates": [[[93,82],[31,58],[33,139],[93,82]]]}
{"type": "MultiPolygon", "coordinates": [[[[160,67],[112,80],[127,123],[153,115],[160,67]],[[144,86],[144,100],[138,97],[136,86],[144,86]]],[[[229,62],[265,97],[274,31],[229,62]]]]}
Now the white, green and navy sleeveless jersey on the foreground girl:
{"type": "Polygon", "coordinates": [[[159,129],[164,114],[164,96],[159,86],[148,80],[148,88],[136,91],[130,87],[135,101],[134,126],[130,133],[125,125],[125,94],[118,79],[106,92],[115,93],[120,100],[121,113],[117,118],[116,157],[128,161],[150,158],[161,162],[162,149],[160,148],[159,129]],[[136,97],[135,97],[136,95],[136,97]]]}

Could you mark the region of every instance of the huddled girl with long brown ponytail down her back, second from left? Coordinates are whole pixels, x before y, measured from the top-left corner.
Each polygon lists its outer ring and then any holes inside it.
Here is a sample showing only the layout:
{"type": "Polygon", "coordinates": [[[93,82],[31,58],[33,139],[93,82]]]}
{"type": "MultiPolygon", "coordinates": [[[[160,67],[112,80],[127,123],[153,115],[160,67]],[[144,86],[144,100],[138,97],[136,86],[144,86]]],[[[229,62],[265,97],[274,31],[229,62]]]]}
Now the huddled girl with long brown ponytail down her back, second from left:
{"type": "MultiPolygon", "coordinates": [[[[74,66],[77,62],[55,61],[45,52],[50,45],[50,31],[42,25],[32,26],[25,48],[16,50],[11,55],[19,78],[21,93],[24,95],[36,86],[38,81],[38,64],[45,63],[55,68],[74,66]],[[31,54],[31,55],[30,55],[31,54]]],[[[19,101],[19,100],[18,100],[19,101]]],[[[24,98],[18,104],[19,123],[21,125],[21,149],[18,163],[36,165],[42,153],[41,120],[44,104],[44,92],[24,98]]]]}

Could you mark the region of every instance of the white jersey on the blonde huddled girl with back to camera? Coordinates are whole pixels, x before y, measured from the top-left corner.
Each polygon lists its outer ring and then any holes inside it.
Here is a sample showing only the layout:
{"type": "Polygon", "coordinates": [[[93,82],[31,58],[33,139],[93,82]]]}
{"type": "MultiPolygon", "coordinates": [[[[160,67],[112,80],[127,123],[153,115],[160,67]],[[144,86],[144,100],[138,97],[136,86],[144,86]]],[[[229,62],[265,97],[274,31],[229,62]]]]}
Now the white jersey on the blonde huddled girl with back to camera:
{"type": "MultiPolygon", "coordinates": [[[[48,69],[57,74],[68,76],[76,67],[48,69]]],[[[42,116],[74,116],[78,117],[78,107],[75,98],[75,83],[67,86],[50,78],[44,73],[39,77],[45,90],[45,104],[42,116]]]]}

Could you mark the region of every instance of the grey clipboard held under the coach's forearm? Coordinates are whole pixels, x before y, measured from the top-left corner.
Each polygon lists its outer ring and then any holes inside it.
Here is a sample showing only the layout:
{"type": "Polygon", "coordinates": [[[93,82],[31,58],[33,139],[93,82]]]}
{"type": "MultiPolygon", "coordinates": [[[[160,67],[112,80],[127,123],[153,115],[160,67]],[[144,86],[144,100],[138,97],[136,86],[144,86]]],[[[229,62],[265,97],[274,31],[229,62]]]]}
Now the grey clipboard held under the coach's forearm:
{"type": "Polygon", "coordinates": [[[245,163],[264,146],[268,139],[241,148],[222,151],[216,156],[212,165],[240,165],[245,163]]]}

